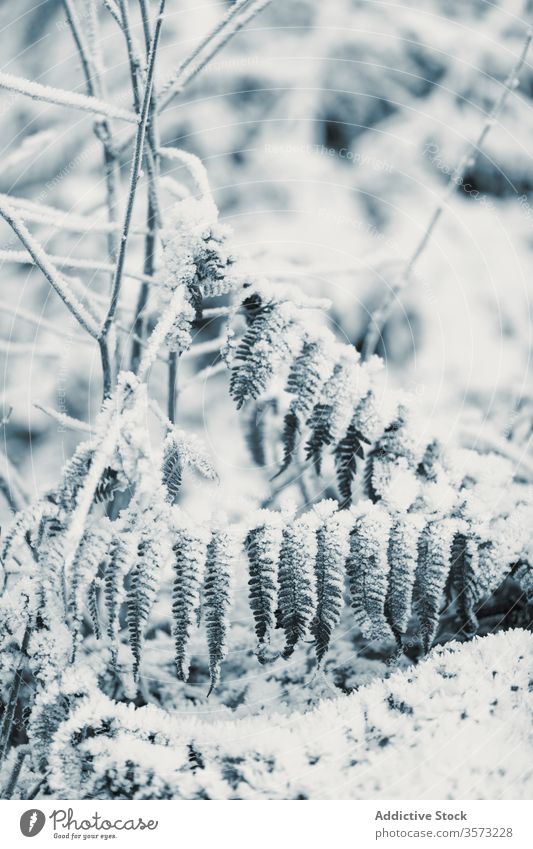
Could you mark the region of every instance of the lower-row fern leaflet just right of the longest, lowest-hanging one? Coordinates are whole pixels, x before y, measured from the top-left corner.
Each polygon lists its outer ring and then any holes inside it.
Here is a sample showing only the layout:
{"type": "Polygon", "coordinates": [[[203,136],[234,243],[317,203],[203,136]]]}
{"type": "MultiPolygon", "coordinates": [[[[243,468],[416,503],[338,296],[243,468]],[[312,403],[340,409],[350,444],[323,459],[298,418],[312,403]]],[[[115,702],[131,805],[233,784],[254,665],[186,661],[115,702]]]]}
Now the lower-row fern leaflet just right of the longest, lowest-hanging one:
{"type": "Polygon", "coordinates": [[[276,625],[278,559],[281,546],[280,517],[267,511],[264,515],[265,521],[248,532],[244,543],[249,563],[250,608],[255,622],[257,657],[260,662],[265,660],[265,648],[276,625]]]}

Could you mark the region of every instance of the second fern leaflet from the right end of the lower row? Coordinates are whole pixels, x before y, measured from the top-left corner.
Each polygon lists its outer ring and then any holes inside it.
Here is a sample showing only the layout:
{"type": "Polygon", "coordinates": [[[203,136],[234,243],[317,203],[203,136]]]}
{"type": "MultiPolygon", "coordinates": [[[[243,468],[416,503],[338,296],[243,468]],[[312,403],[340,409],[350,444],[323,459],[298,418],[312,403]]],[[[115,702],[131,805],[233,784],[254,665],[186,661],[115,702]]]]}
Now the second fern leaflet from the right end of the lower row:
{"type": "Polygon", "coordinates": [[[454,537],[462,530],[457,519],[431,522],[418,544],[418,563],[413,589],[413,608],[420,621],[422,644],[429,651],[439,622],[444,587],[451,565],[454,537]]]}

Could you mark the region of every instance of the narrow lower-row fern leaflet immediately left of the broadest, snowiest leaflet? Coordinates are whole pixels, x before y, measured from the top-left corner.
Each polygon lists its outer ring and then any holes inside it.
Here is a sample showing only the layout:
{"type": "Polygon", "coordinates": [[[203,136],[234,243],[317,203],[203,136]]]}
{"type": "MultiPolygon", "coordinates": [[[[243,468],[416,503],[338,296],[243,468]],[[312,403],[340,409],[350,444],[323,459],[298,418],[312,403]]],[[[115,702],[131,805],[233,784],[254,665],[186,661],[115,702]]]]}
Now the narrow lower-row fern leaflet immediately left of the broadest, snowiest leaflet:
{"type": "MultiPolygon", "coordinates": [[[[334,508],[336,504],[333,502],[334,508]]],[[[326,502],[323,507],[329,506],[326,502]]],[[[333,509],[334,509],[333,508],[333,509]]],[[[328,511],[329,512],[329,511],[328,511]]],[[[348,554],[348,527],[343,514],[326,515],[316,531],[316,609],[311,622],[318,664],[322,663],[331,635],[340,619],[344,591],[344,562],[348,554]]]]}

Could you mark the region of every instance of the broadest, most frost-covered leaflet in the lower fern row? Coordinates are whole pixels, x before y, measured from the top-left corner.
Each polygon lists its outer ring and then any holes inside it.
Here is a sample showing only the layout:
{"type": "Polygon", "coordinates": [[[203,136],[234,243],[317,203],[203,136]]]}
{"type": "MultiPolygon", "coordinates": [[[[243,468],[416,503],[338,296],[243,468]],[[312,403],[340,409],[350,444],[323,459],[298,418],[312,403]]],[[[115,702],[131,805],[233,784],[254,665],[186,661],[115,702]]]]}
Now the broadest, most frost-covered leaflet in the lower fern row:
{"type": "Polygon", "coordinates": [[[369,639],[382,639],[391,633],[385,617],[390,523],[389,514],[376,506],[358,516],[350,531],[346,571],[351,606],[357,625],[369,639]]]}

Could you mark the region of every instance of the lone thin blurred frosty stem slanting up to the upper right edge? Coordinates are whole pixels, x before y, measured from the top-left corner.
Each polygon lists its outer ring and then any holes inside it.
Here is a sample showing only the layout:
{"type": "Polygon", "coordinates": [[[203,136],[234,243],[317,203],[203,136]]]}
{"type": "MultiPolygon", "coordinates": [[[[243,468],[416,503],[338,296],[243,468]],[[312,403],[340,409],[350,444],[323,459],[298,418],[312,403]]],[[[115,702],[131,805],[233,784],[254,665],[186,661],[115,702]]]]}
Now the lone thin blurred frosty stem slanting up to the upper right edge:
{"type": "Polygon", "coordinates": [[[532,38],[533,38],[533,31],[531,29],[528,29],[527,34],[526,34],[526,38],[525,38],[525,41],[524,41],[524,45],[523,45],[522,51],[520,53],[520,56],[518,57],[513,69],[511,70],[510,74],[508,75],[507,79],[505,80],[503,87],[502,87],[502,90],[501,90],[501,93],[500,93],[500,96],[496,100],[494,106],[492,107],[492,109],[490,111],[490,114],[488,115],[485,122],[483,123],[483,126],[481,128],[481,132],[480,132],[478,138],[476,139],[475,142],[471,143],[467,147],[467,149],[466,149],[465,153],[463,154],[463,156],[461,157],[458,165],[456,166],[452,175],[450,176],[450,179],[448,181],[446,189],[444,190],[442,198],[441,198],[440,202],[438,203],[438,205],[436,206],[435,210],[433,211],[433,214],[432,214],[432,216],[429,220],[429,223],[428,223],[428,225],[427,225],[427,227],[424,231],[424,234],[422,235],[422,238],[420,239],[420,241],[419,241],[418,245],[416,246],[413,254],[411,255],[411,258],[408,260],[398,282],[389,287],[389,289],[388,289],[387,293],[385,294],[385,297],[383,298],[381,304],[378,306],[378,308],[372,314],[372,316],[370,318],[368,331],[367,331],[367,334],[366,334],[366,337],[365,337],[365,340],[364,340],[364,344],[363,344],[363,350],[362,350],[363,360],[368,359],[368,357],[372,356],[372,354],[375,352],[377,344],[378,344],[380,336],[381,336],[381,331],[383,330],[385,322],[387,321],[387,319],[390,315],[390,312],[393,308],[394,302],[395,302],[396,298],[398,297],[398,294],[405,289],[407,283],[409,282],[411,275],[413,273],[413,269],[414,269],[415,265],[417,264],[418,260],[420,259],[420,257],[422,256],[422,254],[424,253],[424,251],[425,251],[425,249],[426,249],[426,247],[429,243],[429,240],[430,240],[430,238],[433,234],[433,231],[435,230],[435,227],[437,226],[437,223],[438,223],[440,217],[442,216],[442,214],[444,212],[445,206],[447,205],[449,199],[453,195],[456,187],[461,184],[461,181],[462,181],[462,178],[464,176],[466,169],[469,168],[469,167],[472,167],[472,165],[476,162],[479,154],[481,153],[481,149],[482,149],[482,147],[483,147],[483,145],[484,145],[484,143],[487,139],[487,136],[488,136],[490,130],[492,129],[492,127],[494,126],[494,124],[496,122],[496,118],[498,117],[498,115],[502,111],[503,107],[505,106],[505,103],[507,102],[507,99],[509,98],[510,94],[516,89],[518,82],[519,82],[518,75],[520,74],[522,67],[524,65],[524,62],[526,60],[527,52],[529,50],[532,38]]]}

